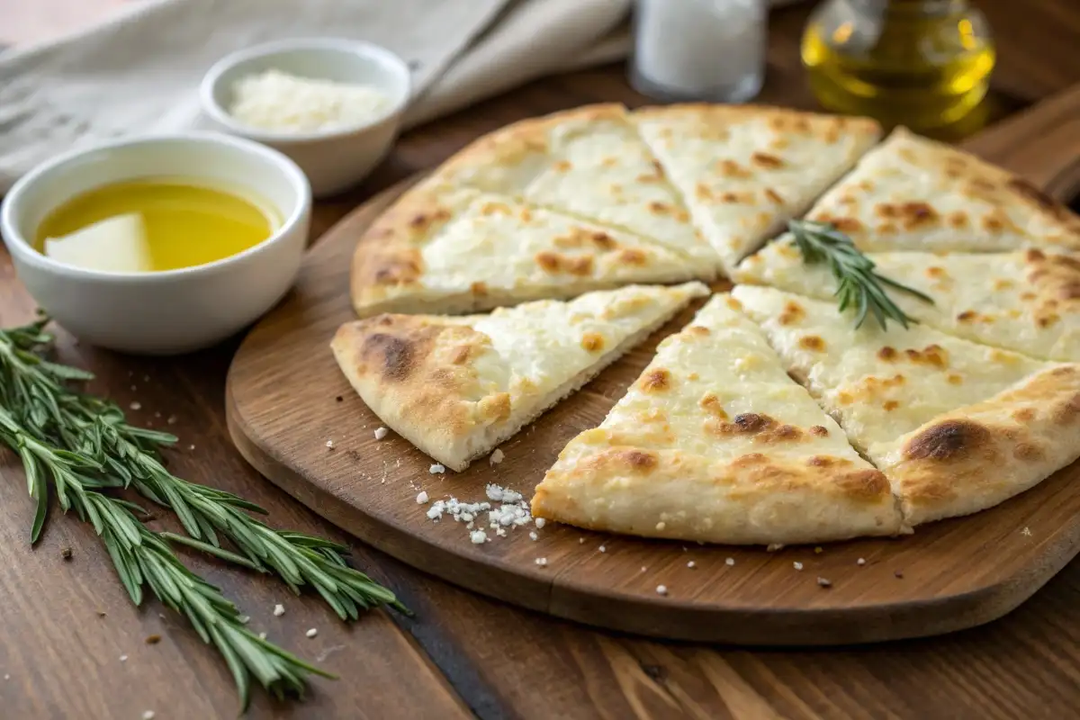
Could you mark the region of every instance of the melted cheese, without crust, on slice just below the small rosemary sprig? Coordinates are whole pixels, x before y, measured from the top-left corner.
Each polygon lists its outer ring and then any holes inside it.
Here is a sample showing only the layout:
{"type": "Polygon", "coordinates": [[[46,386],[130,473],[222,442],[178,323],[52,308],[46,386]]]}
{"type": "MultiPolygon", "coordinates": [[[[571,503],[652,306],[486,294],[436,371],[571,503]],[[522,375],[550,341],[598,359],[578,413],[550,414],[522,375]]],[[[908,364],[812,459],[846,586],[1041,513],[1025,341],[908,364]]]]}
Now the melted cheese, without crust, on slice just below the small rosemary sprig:
{"type": "Polygon", "coordinates": [[[935,417],[1051,367],[924,325],[904,329],[889,323],[881,330],[869,320],[855,329],[852,316],[839,314],[833,301],[751,285],[737,286],[732,296],[872,460],[935,417]]]}

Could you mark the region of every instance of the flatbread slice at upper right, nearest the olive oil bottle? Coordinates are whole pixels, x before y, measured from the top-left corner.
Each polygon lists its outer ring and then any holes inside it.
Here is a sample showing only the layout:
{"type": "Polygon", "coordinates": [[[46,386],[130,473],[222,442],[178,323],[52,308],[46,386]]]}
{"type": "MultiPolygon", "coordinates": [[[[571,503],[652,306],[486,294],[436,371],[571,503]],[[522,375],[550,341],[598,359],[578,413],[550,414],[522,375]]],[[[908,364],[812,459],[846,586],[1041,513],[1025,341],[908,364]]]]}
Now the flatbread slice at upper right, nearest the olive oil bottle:
{"type": "Polygon", "coordinates": [[[1080,249],[1080,218],[1012,173],[897,127],[810,210],[864,250],[1080,249]]]}

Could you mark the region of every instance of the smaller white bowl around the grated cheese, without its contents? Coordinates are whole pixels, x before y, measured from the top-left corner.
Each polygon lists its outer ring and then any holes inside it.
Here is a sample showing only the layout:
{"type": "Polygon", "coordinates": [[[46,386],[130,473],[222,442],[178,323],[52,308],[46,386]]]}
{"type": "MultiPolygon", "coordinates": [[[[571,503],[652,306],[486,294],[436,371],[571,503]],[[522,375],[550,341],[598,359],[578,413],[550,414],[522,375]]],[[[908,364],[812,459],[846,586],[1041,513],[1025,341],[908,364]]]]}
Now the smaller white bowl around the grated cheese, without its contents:
{"type": "Polygon", "coordinates": [[[393,147],[408,104],[408,66],[384,47],[334,38],[279,40],[227,55],[203,78],[203,114],[215,130],[246,137],[296,161],[316,198],[334,194],[363,180],[393,147]],[[302,78],[364,84],[389,97],[377,117],[354,125],[315,132],[274,132],[245,125],[229,114],[237,81],[266,70],[302,78]]]}

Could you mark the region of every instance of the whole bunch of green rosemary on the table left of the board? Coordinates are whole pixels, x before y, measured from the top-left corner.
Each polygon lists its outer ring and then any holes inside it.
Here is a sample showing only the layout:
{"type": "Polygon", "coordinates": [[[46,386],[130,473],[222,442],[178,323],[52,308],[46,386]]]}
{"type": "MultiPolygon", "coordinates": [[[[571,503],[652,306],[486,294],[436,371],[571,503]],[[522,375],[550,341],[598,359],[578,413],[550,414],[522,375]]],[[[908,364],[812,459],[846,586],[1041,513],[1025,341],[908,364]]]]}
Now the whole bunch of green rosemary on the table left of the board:
{"type": "Polygon", "coordinates": [[[252,677],[283,695],[301,693],[309,673],[332,676],[246,629],[235,606],[185,568],[170,543],[273,572],[294,593],[310,585],[342,619],[379,604],[408,612],[393,593],[346,562],[345,546],[272,529],[247,514],[264,513],[258,505],[170,473],[158,451],[176,438],[129,425],[114,404],[73,390],[69,383],[93,376],[45,359],[52,342],[46,323],[0,330],[0,441],[18,453],[37,502],[31,542],[44,525],[51,483],[62,510],[75,508],[94,526],[135,604],[149,585],[217,648],[245,708],[252,677]],[[151,532],[135,515],[145,513],[138,505],[100,492],[125,487],[172,508],[189,536],[151,532]],[[221,536],[238,552],[222,547],[221,536]]]}

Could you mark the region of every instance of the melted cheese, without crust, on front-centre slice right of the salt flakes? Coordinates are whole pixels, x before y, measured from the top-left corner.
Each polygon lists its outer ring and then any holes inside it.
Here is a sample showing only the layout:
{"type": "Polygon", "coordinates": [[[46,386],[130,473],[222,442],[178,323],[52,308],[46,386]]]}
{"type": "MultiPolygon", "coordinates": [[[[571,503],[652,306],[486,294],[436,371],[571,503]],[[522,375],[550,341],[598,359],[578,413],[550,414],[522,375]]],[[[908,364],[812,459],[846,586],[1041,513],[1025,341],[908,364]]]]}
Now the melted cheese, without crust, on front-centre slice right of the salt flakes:
{"type": "Polygon", "coordinates": [[[714,297],[690,326],[664,339],[599,430],[571,440],[563,457],[611,444],[711,460],[829,456],[868,468],[836,422],[787,377],[760,330],[729,303],[726,295],[714,297]]]}

